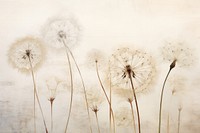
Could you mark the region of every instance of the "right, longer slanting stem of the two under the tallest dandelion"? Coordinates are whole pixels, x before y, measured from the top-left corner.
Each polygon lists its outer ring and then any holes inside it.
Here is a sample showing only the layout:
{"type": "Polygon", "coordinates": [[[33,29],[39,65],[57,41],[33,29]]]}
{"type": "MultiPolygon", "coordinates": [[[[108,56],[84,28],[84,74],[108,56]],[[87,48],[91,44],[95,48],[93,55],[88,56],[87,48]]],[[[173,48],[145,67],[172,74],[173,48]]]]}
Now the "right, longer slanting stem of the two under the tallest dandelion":
{"type": "Polygon", "coordinates": [[[70,55],[71,55],[71,57],[72,57],[72,59],[73,59],[73,61],[75,63],[75,66],[76,66],[76,68],[78,70],[80,78],[81,78],[81,82],[82,82],[82,85],[83,85],[83,91],[84,91],[84,97],[85,97],[85,103],[86,103],[86,108],[87,108],[88,120],[89,120],[89,124],[90,124],[90,133],[92,133],[91,118],[90,118],[89,105],[88,105],[88,100],[87,100],[88,98],[87,98],[87,95],[86,95],[86,87],[85,87],[85,83],[83,81],[83,76],[82,76],[81,71],[80,71],[80,69],[78,67],[78,64],[77,64],[77,62],[76,62],[76,60],[74,58],[73,53],[71,52],[71,50],[69,49],[69,47],[67,45],[65,45],[65,47],[69,51],[69,53],[70,53],[70,55]]]}

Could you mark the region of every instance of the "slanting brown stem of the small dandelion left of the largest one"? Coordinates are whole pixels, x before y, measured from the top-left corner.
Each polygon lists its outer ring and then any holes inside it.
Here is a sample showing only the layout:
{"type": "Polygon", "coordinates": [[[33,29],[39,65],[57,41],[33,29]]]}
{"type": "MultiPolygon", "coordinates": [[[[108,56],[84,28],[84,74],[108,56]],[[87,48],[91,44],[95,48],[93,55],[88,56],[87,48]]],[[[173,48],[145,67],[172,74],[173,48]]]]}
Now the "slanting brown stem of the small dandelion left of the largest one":
{"type": "Polygon", "coordinates": [[[115,133],[115,118],[114,118],[114,113],[113,113],[113,110],[112,110],[111,102],[110,102],[110,100],[109,100],[109,98],[108,98],[108,95],[106,94],[105,88],[104,88],[103,83],[102,83],[102,81],[101,81],[101,78],[100,78],[100,76],[99,76],[99,70],[98,70],[97,62],[95,62],[95,63],[96,63],[96,72],[97,72],[97,77],[98,77],[99,83],[100,83],[100,85],[101,85],[101,88],[102,88],[102,90],[103,90],[103,92],[104,92],[104,95],[105,95],[106,100],[107,100],[107,102],[108,102],[108,104],[109,104],[109,107],[110,107],[110,111],[111,111],[112,119],[113,119],[114,133],[115,133]]]}

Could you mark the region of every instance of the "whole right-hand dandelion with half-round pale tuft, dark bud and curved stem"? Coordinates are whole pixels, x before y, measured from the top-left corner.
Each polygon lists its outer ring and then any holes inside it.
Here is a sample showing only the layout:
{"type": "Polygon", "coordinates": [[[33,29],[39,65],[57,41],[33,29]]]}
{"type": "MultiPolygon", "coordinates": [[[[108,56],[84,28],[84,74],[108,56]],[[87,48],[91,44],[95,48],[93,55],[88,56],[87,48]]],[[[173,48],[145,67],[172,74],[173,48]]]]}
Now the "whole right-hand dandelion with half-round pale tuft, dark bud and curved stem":
{"type": "Polygon", "coordinates": [[[171,62],[169,70],[165,77],[165,80],[162,85],[161,95],[160,95],[160,105],[159,105],[159,124],[158,124],[158,133],[161,132],[162,125],[162,103],[164,97],[164,89],[167,79],[170,75],[170,72],[176,67],[176,64],[179,67],[188,67],[194,63],[193,53],[190,48],[188,48],[184,43],[167,43],[162,49],[163,59],[171,62]]]}

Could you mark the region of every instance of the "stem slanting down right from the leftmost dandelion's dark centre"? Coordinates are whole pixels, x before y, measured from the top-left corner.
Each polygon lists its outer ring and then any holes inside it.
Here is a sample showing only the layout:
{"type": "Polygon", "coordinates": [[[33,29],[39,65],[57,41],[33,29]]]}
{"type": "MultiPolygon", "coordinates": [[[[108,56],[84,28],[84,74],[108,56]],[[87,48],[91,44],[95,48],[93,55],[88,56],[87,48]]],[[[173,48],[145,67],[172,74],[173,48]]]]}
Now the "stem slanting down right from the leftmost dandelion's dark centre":
{"type": "Polygon", "coordinates": [[[32,62],[31,62],[30,56],[28,56],[28,59],[29,59],[29,63],[30,63],[30,66],[31,66],[31,75],[32,75],[32,79],[33,79],[34,93],[35,93],[35,96],[36,96],[36,99],[37,99],[37,102],[38,102],[38,105],[39,105],[39,108],[40,108],[40,112],[42,114],[45,131],[46,131],[46,133],[48,133],[47,125],[46,125],[46,122],[45,122],[45,119],[44,119],[44,114],[43,114],[43,111],[42,111],[42,106],[40,104],[40,100],[39,100],[39,97],[38,97],[38,94],[37,94],[37,90],[36,90],[35,76],[34,76],[34,73],[33,73],[33,66],[32,66],[32,62]]]}

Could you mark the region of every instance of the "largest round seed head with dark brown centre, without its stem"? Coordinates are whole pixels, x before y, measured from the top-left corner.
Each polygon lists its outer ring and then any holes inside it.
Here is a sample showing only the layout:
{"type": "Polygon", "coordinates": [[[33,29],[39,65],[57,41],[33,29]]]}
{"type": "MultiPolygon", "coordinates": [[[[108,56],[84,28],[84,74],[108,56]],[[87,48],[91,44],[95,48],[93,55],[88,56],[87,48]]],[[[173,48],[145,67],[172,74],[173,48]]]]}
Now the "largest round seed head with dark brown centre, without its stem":
{"type": "Polygon", "coordinates": [[[118,49],[110,63],[112,85],[119,88],[130,88],[131,77],[136,92],[144,90],[151,84],[155,74],[152,57],[139,50],[118,49]]]}

